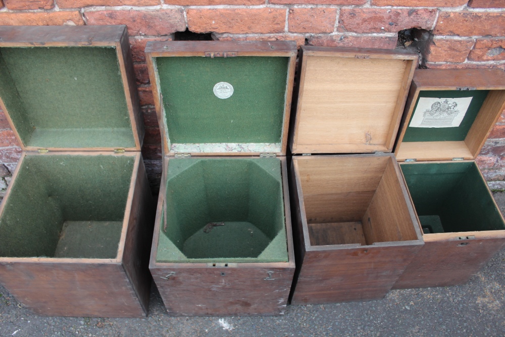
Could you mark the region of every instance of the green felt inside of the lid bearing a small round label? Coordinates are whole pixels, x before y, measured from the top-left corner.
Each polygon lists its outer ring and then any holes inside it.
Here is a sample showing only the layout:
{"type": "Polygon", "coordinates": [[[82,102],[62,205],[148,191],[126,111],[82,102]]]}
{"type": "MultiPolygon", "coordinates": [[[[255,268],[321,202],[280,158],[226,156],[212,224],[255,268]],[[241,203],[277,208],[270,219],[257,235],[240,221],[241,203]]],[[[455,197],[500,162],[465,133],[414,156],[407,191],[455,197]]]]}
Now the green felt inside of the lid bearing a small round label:
{"type": "Polygon", "coordinates": [[[170,152],[281,151],[289,57],[153,61],[170,152]],[[219,82],[233,86],[231,97],[214,94],[219,82]]]}

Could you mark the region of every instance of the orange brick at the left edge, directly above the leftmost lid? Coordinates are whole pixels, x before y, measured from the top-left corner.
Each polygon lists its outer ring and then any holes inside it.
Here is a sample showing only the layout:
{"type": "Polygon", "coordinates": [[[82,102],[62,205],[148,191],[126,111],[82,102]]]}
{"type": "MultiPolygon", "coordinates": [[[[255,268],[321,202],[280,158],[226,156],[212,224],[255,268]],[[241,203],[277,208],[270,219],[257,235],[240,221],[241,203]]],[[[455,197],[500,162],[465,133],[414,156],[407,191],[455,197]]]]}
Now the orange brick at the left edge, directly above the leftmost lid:
{"type": "Polygon", "coordinates": [[[78,11],[0,13],[0,25],[61,26],[64,24],[83,25],[84,20],[78,11]]]}

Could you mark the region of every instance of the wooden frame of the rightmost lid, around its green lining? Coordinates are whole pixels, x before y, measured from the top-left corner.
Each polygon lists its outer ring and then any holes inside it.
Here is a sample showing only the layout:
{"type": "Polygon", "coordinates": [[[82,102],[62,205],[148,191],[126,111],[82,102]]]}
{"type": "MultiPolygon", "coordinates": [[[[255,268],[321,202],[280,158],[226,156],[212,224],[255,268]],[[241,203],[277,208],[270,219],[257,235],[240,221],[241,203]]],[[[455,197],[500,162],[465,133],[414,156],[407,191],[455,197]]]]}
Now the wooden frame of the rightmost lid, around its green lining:
{"type": "MultiPolygon", "coordinates": [[[[460,94],[460,95],[461,95],[460,94]]],[[[462,96],[467,96],[463,94],[462,96]]],[[[472,160],[482,149],[491,129],[505,109],[505,73],[499,69],[421,69],[416,71],[394,150],[398,161],[472,160]],[[406,132],[416,103],[427,91],[447,96],[451,91],[468,93],[489,90],[468,132],[459,140],[407,141],[406,132]]],[[[477,111],[475,110],[475,111],[477,111]]],[[[428,138],[430,137],[429,133],[428,138]]],[[[432,136],[433,137],[433,136],[432,136]]]]}

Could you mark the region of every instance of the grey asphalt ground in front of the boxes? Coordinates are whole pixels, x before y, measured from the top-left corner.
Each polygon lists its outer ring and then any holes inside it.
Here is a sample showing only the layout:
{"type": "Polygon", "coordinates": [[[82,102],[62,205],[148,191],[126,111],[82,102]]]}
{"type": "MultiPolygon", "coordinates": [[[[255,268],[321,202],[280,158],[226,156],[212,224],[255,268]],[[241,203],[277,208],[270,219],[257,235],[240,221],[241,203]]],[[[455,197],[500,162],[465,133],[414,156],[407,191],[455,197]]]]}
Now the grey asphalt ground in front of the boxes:
{"type": "MultiPolygon", "coordinates": [[[[503,212],[505,193],[494,196],[503,212]]],[[[505,336],[505,249],[465,285],[288,306],[278,317],[170,317],[155,286],[146,318],[44,317],[0,286],[0,336],[505,336]]]]}

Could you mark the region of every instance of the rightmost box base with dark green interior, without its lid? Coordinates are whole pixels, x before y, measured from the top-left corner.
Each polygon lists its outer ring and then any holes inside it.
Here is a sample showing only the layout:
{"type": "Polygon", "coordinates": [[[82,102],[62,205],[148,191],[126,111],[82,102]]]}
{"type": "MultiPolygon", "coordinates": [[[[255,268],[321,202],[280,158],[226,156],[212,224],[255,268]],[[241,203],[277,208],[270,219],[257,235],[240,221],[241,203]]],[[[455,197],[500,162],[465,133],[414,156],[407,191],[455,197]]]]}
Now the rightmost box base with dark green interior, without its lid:
{"type": "Polygon", "coordinates": [[[393,288],[466,283],[505,245],[505,224],[477,164],[402,163],[400,168],[425,245],[393,288]]]}

